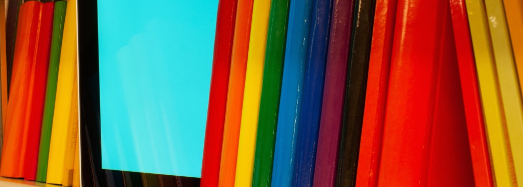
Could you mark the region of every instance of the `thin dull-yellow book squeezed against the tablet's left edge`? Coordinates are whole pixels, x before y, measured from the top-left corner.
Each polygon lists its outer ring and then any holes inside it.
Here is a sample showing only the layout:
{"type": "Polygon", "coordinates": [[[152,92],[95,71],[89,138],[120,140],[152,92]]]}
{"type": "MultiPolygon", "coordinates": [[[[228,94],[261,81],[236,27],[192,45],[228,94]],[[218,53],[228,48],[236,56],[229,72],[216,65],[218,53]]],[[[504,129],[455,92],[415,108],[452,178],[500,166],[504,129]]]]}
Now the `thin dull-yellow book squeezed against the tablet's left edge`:
{"type": "Polygon", "coordinates": [[[67,130],[67,147],[65,148],[65,159],[63,168],[63,179],[62,185],[71,186],[73,185],[74,175],[74,159],[77,155],[76,152],[76,140],[78,139],[78,83],[75,76],[75,82],[73,86],[73,95],[71,101],[71,115],[69,117],[69,129],[67,130]]]}

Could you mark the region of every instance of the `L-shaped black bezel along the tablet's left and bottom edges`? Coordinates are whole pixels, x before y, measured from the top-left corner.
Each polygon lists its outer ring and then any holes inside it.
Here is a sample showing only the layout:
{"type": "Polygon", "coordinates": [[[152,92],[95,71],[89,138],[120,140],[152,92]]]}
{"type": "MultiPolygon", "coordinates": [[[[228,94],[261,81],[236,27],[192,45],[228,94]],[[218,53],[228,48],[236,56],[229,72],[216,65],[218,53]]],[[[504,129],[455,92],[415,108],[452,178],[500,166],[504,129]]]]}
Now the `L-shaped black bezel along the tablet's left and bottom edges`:
{"type": "MultiPolygon", "coordinates": [[[[142,173],[101,168],[97,0],[77,0],[76,7],[82,186],[142,186],[142,173]]],[[[199,178],[156,176],[160,186],[199,186],[200,182],[199,178]]]]}

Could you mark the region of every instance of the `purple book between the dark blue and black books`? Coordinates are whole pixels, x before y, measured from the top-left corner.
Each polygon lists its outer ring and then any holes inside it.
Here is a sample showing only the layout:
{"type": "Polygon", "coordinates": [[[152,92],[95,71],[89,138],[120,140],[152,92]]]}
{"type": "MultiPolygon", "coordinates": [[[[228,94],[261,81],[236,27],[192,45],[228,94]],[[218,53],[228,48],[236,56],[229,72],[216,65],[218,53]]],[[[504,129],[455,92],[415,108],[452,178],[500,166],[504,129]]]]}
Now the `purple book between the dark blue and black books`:
{"type": "Polygon", "coordinates": [[[353,0],[334,1],[314,186],[334,186],[336,182],[353,16],[353,0]]]}

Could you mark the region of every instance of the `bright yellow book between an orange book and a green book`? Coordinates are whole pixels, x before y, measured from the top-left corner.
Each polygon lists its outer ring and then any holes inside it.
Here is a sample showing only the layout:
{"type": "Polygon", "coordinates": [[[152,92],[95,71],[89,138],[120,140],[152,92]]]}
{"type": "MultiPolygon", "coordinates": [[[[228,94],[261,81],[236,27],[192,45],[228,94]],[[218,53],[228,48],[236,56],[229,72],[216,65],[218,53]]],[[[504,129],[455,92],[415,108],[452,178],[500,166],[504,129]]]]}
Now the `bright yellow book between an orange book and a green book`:
{"type": "Polygon", "coordinates": [[[261,83],[263,82],[269,10],[270,0],[254,0],[234,179],[235,186],[251,186],[253,180],[256,130],[258,128],[261,83]]]}

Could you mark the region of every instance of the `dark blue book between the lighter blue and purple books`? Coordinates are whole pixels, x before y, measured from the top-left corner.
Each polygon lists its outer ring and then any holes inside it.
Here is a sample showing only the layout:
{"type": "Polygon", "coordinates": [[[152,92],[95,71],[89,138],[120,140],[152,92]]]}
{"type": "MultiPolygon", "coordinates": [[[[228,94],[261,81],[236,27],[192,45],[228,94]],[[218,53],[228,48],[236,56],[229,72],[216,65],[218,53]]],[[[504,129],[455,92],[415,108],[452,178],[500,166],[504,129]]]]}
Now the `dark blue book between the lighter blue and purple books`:
{"type": "Polygon", "coordinates": [[[313,182],[323,101],[329,26],[331,25],[331,8],[331,0],[316,0],[312,8],[311,20],[313,22],[309,33],[310,42],[307,49],[309,54],[305,65],[293,186],[312,186],[313,182]]]}

